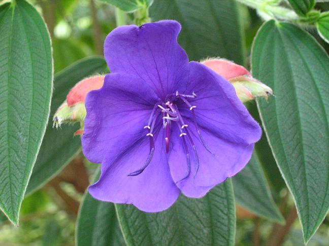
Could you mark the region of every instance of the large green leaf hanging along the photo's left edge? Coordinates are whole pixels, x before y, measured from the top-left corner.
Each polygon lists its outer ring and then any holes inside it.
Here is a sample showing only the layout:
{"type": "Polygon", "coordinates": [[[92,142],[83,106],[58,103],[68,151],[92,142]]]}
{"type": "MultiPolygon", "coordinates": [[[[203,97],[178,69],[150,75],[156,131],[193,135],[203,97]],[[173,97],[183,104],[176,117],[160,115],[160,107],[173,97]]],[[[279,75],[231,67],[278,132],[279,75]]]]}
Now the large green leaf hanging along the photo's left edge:
{"type": "Polygon", "coordinates": [[[0,209],[17,225],[45,134],[53,80],[50,37],[24,0],[0,7],[0,209]]]}

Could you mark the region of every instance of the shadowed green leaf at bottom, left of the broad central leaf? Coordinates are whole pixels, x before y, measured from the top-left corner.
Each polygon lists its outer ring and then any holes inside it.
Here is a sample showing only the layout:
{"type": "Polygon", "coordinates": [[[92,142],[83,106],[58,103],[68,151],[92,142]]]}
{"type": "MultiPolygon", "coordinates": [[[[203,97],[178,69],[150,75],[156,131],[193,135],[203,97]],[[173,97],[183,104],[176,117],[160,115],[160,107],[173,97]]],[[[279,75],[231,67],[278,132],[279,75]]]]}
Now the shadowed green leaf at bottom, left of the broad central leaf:
{"type": "MultiPolygon", "coordinates": [[[[97,171],[93,183],[99,176],[100,172],[97,171]]],[[[114,204],[96,200],[86,191],[78,214],[76,245],[120,246],[124,244],[114,204]]]]}

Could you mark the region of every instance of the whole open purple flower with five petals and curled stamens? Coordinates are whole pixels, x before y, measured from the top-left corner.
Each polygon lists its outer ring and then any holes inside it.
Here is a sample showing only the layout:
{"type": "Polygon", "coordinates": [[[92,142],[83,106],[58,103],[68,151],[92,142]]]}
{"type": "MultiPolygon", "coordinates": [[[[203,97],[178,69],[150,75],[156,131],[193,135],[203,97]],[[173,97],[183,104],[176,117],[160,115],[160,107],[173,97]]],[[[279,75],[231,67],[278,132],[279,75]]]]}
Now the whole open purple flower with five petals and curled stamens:
{"type": "Polygon", "coordinates": [[[178,45],[176,21],[121,26],[106,38],[111,74],[86,98],[82,148],[102,163],[96,199],[168,209],[247,164],[261,130],[233,86],[178,45]]]}

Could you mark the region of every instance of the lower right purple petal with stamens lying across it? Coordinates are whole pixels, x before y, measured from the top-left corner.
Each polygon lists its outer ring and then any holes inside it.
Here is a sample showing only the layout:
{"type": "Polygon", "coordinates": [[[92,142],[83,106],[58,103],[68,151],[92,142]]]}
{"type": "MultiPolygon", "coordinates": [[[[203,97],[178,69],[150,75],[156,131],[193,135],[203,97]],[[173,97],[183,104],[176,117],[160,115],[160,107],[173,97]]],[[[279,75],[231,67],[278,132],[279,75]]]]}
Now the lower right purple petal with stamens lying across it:
{"type": "Polygon", "coordinates": [[[205,143],[213,152],[212,154],[206,150],[198,134],[196,134],[193,122],[186,120],[185,123],[189,126],[189,133],[198,153],[199,169],[196,171],[195,155],[191,145],[188,144],[191,155],[191,170],[190,175],[183,179],[187,170],[186,155],[179,137],[180,132],[176,128],[172,133],[173,147],[169,156],[170,171],[173,180],[184,195],[198,198],[204,196],[215,185],[241,171],[251,158],[254,144],[245,145],[225,141],[213,136],[206,129],[200,129],[205,143]]]}

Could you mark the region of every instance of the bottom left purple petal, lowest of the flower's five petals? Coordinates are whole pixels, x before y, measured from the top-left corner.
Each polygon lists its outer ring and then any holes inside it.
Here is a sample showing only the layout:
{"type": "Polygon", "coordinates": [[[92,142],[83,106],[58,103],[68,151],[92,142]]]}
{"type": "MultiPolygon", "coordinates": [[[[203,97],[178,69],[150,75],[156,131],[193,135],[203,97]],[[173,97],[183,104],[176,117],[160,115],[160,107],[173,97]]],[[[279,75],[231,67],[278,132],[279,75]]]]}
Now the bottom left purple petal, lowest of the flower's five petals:
{"type": "Polygon", "coordinates": [[[116,157],[107,154],[102,162],[100,180],[89,187],[89,193],[98,200],[132,203],[145,212],[160,212],[172,206],[180,190],[170,175],[164,131],[160,128],[159,125],[154,135],[154,156],[144,172],[127,176],[140,169],[148,157],[146,136],[116,157]]]}

